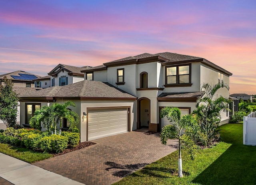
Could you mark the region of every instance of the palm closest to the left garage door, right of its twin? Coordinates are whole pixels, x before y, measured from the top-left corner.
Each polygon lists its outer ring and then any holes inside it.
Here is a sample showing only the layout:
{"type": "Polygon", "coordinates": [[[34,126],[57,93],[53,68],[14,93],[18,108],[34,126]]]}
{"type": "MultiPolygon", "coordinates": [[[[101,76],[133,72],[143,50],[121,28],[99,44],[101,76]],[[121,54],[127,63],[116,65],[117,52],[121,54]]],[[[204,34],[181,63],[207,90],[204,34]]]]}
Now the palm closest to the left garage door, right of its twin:
{"type": "Polygon", "coordinates": [[[79,116],[74,111],[68,109],[69,106],[76,107],[76,104],[73,101],[68,100],[63,104],[54,103],[52,105],[57,122],[60,123],[59,134],[61,134],[62,121],[64,118],[70,122],[70,128],[73,127],[73,125],[76,125],[79,121],[79,116]]]}

